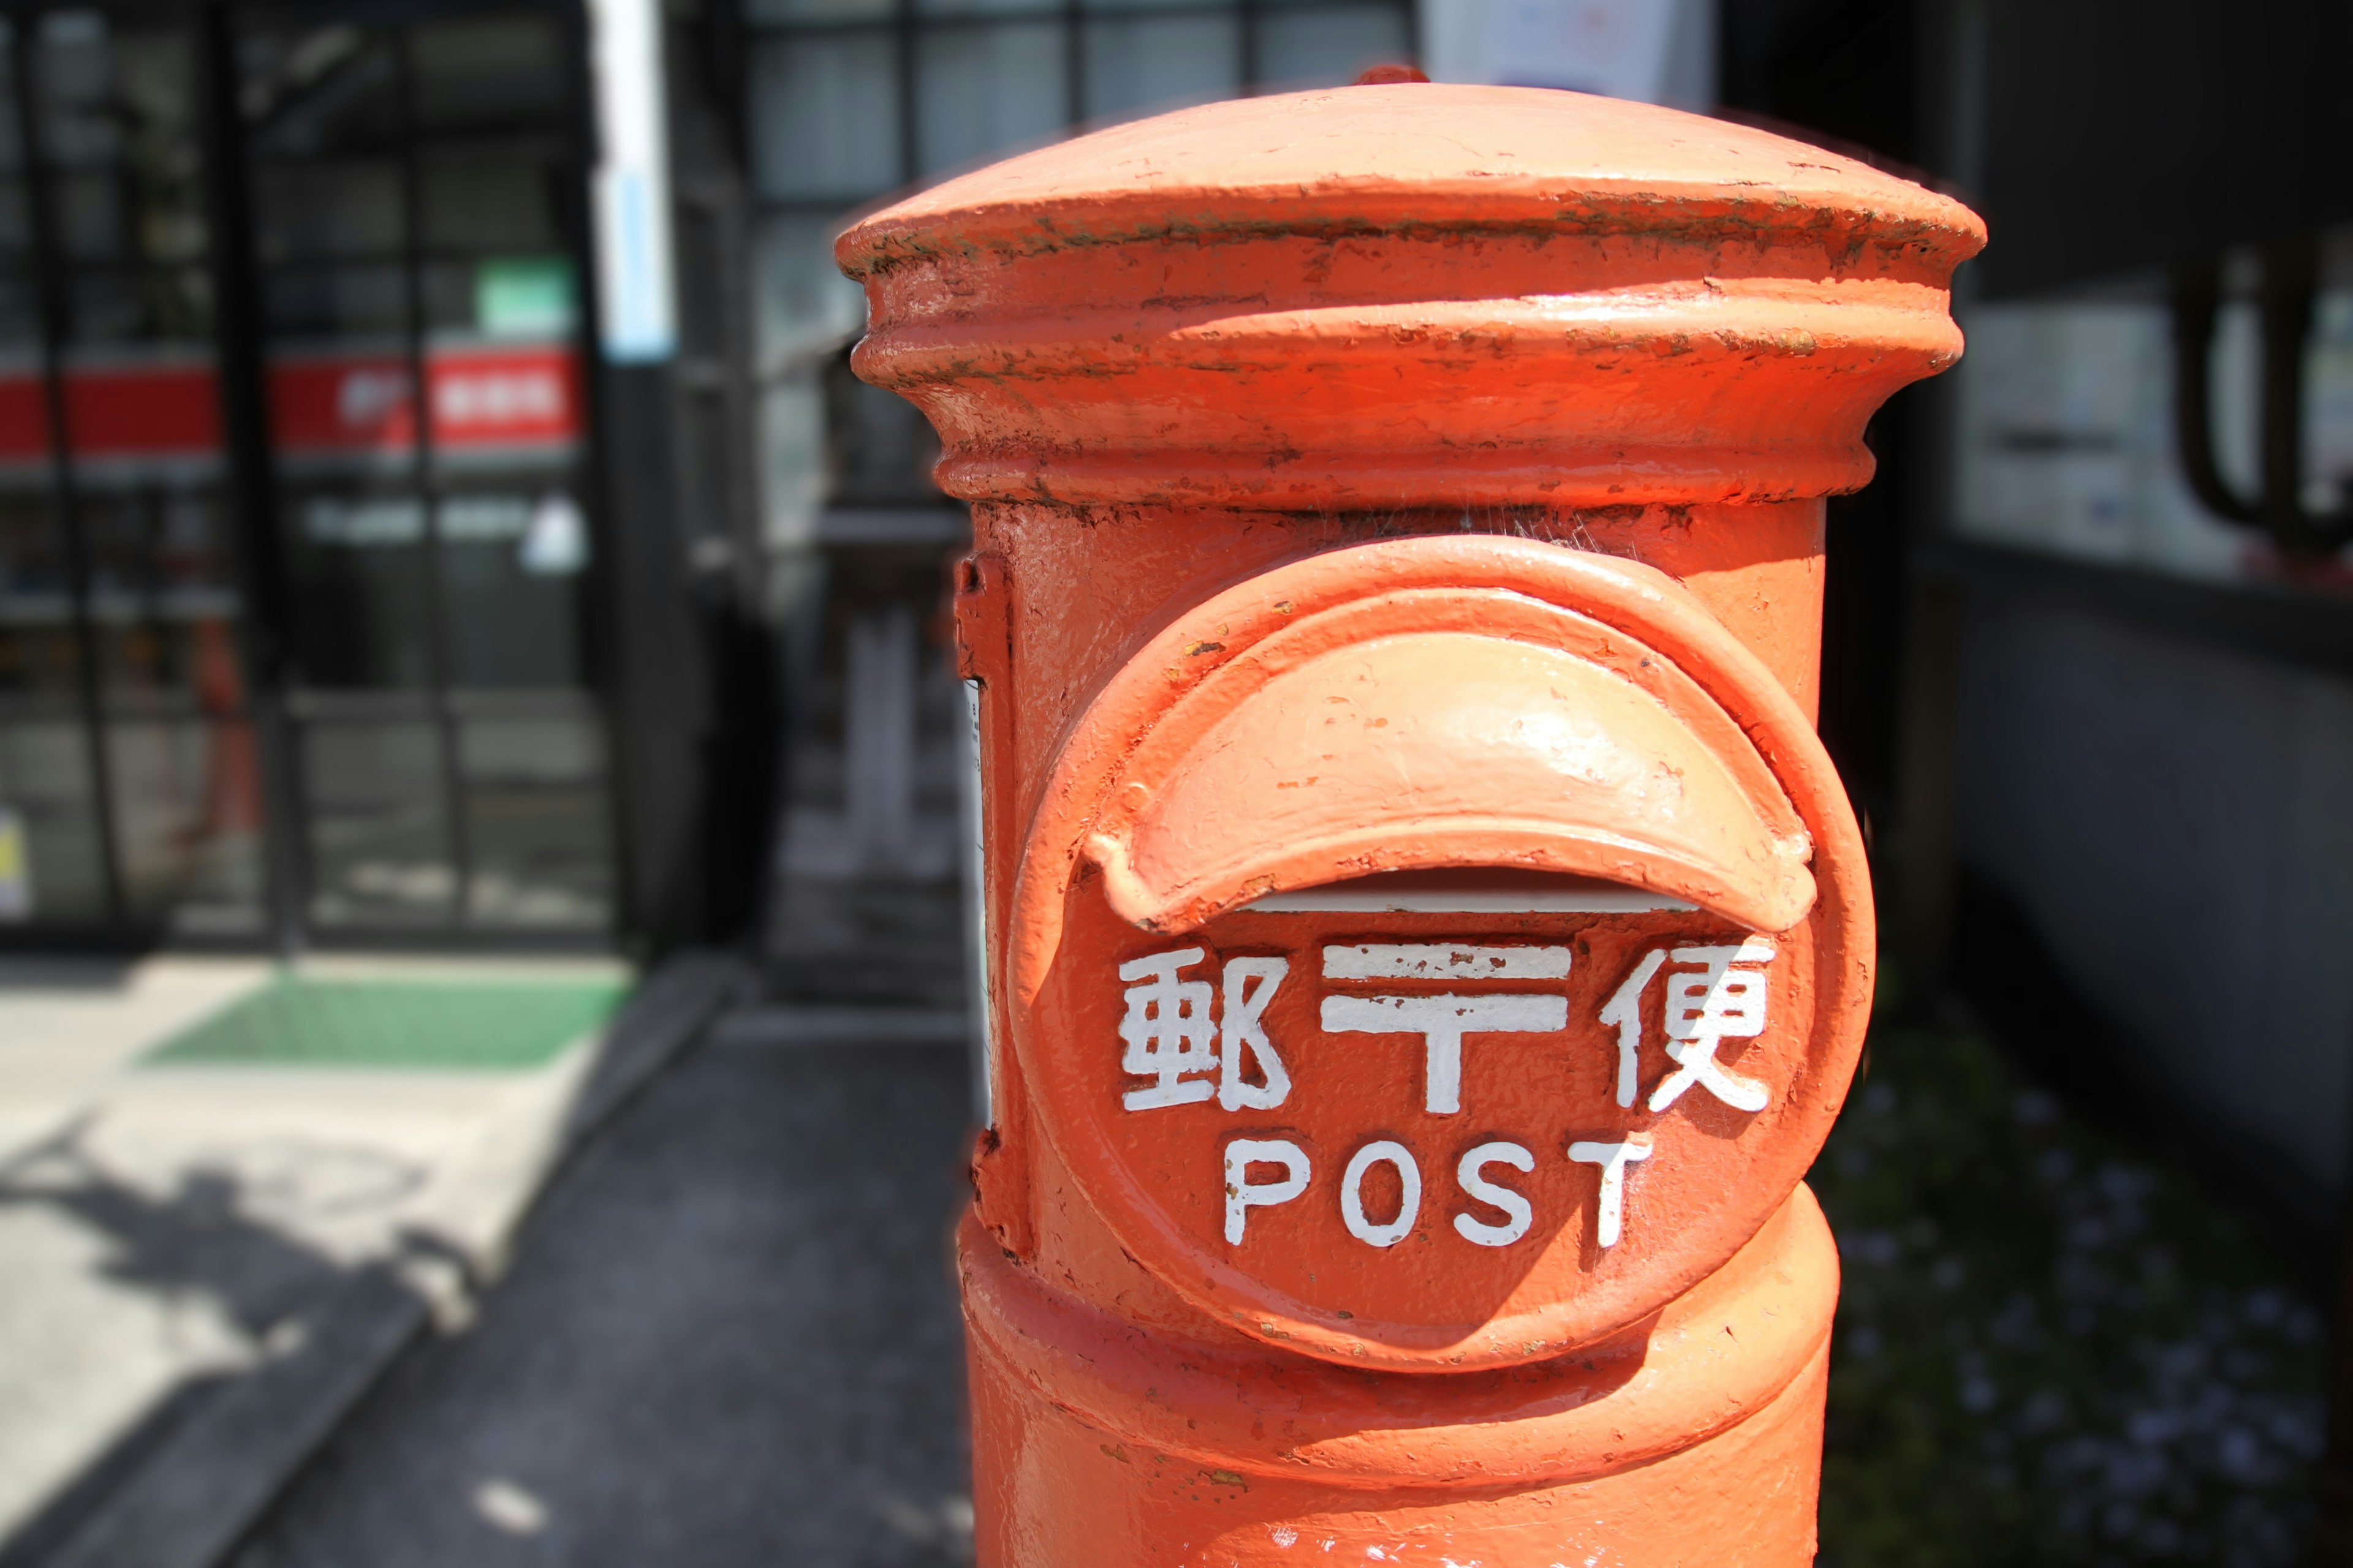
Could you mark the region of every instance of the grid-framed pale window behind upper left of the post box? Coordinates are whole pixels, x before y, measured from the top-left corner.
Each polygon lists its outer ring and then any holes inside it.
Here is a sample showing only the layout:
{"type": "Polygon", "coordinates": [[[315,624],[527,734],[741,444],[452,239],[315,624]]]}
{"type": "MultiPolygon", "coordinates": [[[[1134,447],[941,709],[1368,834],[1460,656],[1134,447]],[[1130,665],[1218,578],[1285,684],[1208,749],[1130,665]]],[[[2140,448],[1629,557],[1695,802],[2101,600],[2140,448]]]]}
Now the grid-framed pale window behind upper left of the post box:
{"type": "Polygon", "coordinates": [[[849,209],[1073,127],[1325,87],[1412,49],[1407,0],[748,0],[767,538],[814,543],[828,501],[936,498],[929,449],[826,364],[864,299],[833,268],[849,209]],[[880,421],[880,423],[878,423],[880,421]],[[901,470],[880,475],[894,449],[901,470]],[[812,468],[812,461],[816,468],[812,468]]]}

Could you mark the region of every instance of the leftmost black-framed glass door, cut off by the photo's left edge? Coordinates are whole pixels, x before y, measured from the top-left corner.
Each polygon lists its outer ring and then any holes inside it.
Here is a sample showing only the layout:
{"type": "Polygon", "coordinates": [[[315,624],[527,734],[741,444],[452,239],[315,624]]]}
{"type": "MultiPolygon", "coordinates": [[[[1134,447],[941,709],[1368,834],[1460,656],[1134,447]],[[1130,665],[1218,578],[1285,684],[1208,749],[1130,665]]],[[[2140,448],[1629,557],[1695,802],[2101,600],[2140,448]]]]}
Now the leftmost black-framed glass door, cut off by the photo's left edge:
{"type": "Polygon", "coordinates": [[[24,16],[5,87],[0,919],[252,936],[193,35],[24,16]]]}

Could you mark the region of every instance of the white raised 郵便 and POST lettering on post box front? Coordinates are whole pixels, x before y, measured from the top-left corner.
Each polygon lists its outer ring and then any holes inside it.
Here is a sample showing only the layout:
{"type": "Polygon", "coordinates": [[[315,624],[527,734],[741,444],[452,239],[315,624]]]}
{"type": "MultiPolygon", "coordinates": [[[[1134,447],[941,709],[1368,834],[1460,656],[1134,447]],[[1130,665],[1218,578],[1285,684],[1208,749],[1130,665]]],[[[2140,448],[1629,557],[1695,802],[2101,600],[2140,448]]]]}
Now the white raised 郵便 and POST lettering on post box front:
{"type": "MultiPolygon", "coordinates": [[[[1320,1107],[1313,1100],[1304,1107],[1292,1100],[1294,1074],[1304,1060],[1301,1034],[1313,1039],[1320,1030],[1322,1037],[1419,1034],[1421,1093],[1395,1112],[1464,1117],[1468,1037],[1569,1034],[1572,1011],[1602,1027],[1600,1086],[1621,1112],[1654,1117],[1682,1103],[1694,1088],[1704,1091],[1701,1100],[1748,1114],[1772,1103],[1767,1084],[1734,1072],[1715,1056],[1727,1041],[1755,1039],[1767,1027],[1767,973],[1777,947],[1765,938],[1638,947],[1631,969],[1609,987],[1607,999],[1598,1006],[1586,999],[1579,1009],[1572,1009],[1569,997],[1574,971],[1569,945],[1313,943],[1308,952],[1318,952],[1327,990],[1320,997],[1285,1001],[1280,1013],[1271,1009],[1299,954],[1212,959],[1209,945],[1193,945],[1122,961],[1118,1039],[1120,1070],[1129,1077],[1129,1086],[1120,1093],[1122,1107],[1176,1112],[1191,1105],[1198,1110],[1179,1114],[1219,1119],[1289,1110],[1313,1121],[1320,1107]],[[1285,1023],[1275,1025],[1271,1018],[1285,1023]],[[1657,1034],[1647,1039],[1649,1027],[1657,1034]],[[1640,1093],[1645,1077],[1652,1077],[1647,1098],[1640,1093]]],[[[1518,1053],[1513,1072],[1525,1072],[1532,1060],[1567,1063],[1574,1058],[1560,1053],[1593,1048],[1591,1032],[1579,1032],[1574,1039],[1577,1046],[1567,1041],[1548,1046],[1553,1051],[1548,1058],[1525,1056],[1534,1041],[1522,1039],[1511,1046],[1518,1053]]],[[[1325,1072],[1334,1070],[1332,1063],[1346,1063],[1332,1056],[1322,1060],[1325,1072]]],[[[1379,1067],[1386,1081],[1393,1081],[1393,1065],[1379,1067]]],[[[1369,1114],[1384,1112],[1374,1107],[1369,1114]]],[[[1562,1138],[1555,1124],[1551,1131],[1527,1128],[1508,1138],[1487,1133],[1466,1150],[1461,1143],[1431,1147],[1421,1140],[1426,1133],[1412,1133],[1409,1124],[1395,1131],[1362,1121],[1358,1126],[1346,1161],[1339,1161],[1337,1150],[1311,1154],[1318,1147],[1315,1138],[1301,1138],[1280,1124],[1247,1131],[1249,1124],[1242,1121],[1233,1128],[1235,1135],[1221,1138],[1226,1244],[1242,1248],[1259,1229],[1252,1225],[1254,1213],[1299,1204],[1322,1185],[1320,1201],[1337,1199],[1348,1237],[1367,1248],[1395,1248],[1421,1222],[1424,1166],[1438,1161],[1428,1166],[1433,1178],[1442,1180],[1435,1173],[1449,1171],[1457,1194],[1438,1204],[1433,1222],[1478,1248],[1518,1246],[1537,1232],[1541,1218],[1529,1192],[1548,1180],[1532,1147],[1548,1145],[1555,1150],[1553,1159],[1593,1166],[1591,1239],[1607,1251],[1626,1234],[1631,1171],[1652,1159],[1654,1150],[1654,1135],[1638,1128],[1591,1133],[1579,1128],[1562,1138]],[[1334,1164],[1320,1166],[1325,1159],[1334,1164]]],[[[1271,1244],[1257,1241],[1257,1246],[1271,1244]]]]}

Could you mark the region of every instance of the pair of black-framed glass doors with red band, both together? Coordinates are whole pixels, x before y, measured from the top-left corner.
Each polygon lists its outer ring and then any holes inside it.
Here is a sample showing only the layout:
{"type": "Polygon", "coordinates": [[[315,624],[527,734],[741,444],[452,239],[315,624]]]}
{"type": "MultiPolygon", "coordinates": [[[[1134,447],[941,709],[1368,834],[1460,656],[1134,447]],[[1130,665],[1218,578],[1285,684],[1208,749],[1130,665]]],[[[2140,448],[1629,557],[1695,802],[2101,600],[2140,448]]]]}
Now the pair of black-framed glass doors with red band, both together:
{"type": "Polygon", "coordinates": [[[0,21],[0,933],[609,936],[579,14],[136,16],[0,21]]]}

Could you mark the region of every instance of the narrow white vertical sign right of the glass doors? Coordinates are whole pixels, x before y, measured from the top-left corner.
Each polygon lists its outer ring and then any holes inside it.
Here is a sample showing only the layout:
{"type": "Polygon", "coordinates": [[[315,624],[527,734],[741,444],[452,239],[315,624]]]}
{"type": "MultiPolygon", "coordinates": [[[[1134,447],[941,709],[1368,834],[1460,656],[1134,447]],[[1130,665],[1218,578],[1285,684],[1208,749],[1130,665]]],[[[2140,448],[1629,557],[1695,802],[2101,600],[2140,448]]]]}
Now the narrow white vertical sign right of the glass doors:
{"type": "Polygon", "coordinates": [[[588,0],[588,26],[598,110],[600,336],[614,364],[656,364],[678,348],[659,0],[588,0]]]}

